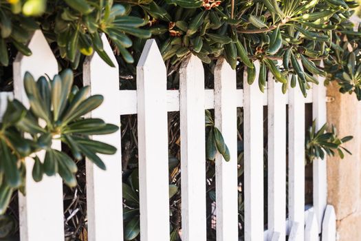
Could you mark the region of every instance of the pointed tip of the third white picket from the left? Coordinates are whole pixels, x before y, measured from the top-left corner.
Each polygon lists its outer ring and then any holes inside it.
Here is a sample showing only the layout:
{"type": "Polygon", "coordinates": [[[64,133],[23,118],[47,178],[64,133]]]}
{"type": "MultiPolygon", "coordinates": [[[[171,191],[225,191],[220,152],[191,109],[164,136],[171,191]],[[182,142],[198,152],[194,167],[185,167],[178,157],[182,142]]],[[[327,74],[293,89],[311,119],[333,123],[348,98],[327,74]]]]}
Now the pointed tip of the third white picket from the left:
{"type": "Polygon", "coordinates": [[[148,39],[146,41],[138,61],[138,67],[166,67],[155,39],[148,39]]]}

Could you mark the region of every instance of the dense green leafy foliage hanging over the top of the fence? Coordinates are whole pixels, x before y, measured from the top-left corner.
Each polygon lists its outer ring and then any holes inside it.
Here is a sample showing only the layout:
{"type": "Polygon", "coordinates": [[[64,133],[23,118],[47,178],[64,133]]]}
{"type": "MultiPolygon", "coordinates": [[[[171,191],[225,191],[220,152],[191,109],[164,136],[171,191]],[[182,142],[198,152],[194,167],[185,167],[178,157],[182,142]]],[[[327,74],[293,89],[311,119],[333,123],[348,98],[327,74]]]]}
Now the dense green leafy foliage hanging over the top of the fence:
{"type": "Polygon", "coordinates": [[[188,54],[204,63],[223,56],[233,68],[247,67],[251,84],[252,62],[258,60],[261,91],[269,70],[283,83],[283,92],[298,85],[306,96],[310,84],[318,83],[317,74],[361,98],[358,72],[349,73],[358,63],[360,34],[349,21],[357,6],[349,0],[1,0],[0,63],[8,65],[12,45],[31,54],[25,44],[37,28],[74,69],[81,56],[94,51],[113,65],[102,49],[101,33],[124,63],[133,63],[145,39],[153,37],[171,65],[179,66],[188,54]],[[352,50],[345,51],[350,45],[352,50]],[[347,73],[336,74],[342,69],[347,73]]]}

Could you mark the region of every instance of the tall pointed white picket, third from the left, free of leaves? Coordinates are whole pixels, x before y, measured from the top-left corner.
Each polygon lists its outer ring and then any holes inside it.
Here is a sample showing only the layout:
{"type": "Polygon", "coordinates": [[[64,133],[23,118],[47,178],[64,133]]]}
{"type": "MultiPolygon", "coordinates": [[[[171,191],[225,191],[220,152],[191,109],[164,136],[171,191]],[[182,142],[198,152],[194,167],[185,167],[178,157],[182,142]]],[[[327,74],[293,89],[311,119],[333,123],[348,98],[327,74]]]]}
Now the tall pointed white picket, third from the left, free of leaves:
{"type": "Polygon", "coordinates": [[[154,39],[137,65],[140,239],[169,240],[166,66],[154,39]],[[156,140],[156,141],[155,141],[156,140]]]}

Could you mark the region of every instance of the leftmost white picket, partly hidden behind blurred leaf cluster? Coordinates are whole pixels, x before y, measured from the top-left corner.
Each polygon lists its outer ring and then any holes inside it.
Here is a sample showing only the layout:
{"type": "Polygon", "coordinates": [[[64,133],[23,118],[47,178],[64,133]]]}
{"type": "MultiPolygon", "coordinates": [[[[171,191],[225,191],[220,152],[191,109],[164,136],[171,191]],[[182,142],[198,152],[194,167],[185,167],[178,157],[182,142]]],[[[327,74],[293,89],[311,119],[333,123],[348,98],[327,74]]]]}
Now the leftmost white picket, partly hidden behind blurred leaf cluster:
{"type": "MultiPolygon", "coordinates": [[[[14,61],[14,97],[29,107],[29,101],[23,87],[25,72],[30,72],[35,79],[47,74],[52,78],[58,73],[58,63],[41,32],[36,30],[28,48],[31,56],[18,54],[14,61]],[[46,60],[46,61],[44,61],[46,60]]],[[[53,141],[54,149],[61,149],[60,141],[53,141]]],[[[45,151],[37,154],[41,160],[45,151]]],[[[63,223],[63,181],[60,176],[43,176],[41,182],[32,179],[32,158],[25,158],[26,196],[19,192],[19,225],[22,241],[64,240],[63,223]]]]}

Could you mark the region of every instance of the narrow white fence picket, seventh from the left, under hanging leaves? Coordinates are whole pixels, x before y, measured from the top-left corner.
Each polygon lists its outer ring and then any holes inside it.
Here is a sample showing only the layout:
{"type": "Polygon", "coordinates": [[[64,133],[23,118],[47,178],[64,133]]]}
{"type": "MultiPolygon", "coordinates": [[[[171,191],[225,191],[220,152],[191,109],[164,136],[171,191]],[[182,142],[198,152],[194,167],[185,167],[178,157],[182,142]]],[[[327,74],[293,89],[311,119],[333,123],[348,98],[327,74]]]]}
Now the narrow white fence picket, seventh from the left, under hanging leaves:
{"type": "Polygon", "coordinates": [[[285,240],[286,105],[282,84],[268,74],[268,240],[285,240]]]}

